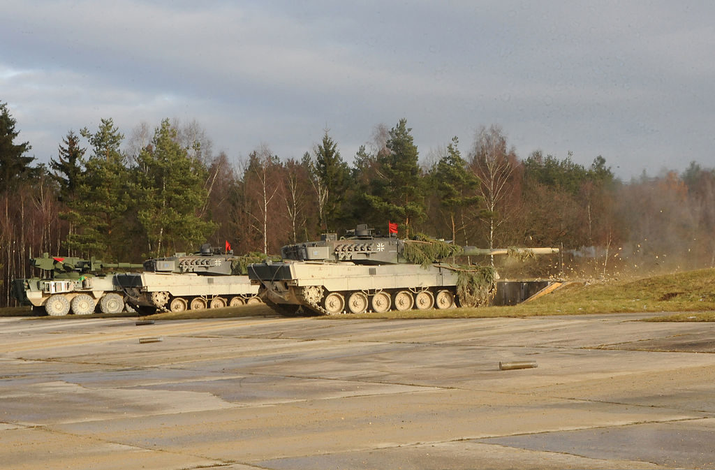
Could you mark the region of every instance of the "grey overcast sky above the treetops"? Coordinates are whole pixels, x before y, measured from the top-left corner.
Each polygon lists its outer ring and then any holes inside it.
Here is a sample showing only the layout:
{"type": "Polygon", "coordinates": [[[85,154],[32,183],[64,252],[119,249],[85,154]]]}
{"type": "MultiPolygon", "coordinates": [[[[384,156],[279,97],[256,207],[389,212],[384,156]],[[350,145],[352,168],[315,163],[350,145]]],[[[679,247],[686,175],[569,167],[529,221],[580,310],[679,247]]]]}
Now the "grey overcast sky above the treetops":
{"type": "Polygon", "coordinates": [[[618,177],[715,166],[712,1],[0,0],[0,102],[38,162],[111,117],[196,121],[213,152],[342,157],[375,126],[420,157],[498,124],[618,177]]]}

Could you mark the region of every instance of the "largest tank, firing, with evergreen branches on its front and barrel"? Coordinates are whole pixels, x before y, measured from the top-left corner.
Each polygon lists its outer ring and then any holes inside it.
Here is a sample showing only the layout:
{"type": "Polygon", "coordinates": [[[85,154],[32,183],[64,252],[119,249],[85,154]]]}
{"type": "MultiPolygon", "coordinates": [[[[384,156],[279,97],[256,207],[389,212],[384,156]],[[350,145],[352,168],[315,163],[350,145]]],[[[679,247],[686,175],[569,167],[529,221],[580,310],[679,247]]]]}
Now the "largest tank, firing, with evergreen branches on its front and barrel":
{"type": "Polygon", "coordinates": [[[358,225],[347,237],[286,245],[280,263],[248,267],[267,305],[284,314],[382,313],[388,310],[483,305],[493,294],[490,267],[449,263],[457,256],[558,253],[557,248],[488,250],[420,237],[373,235],[358,225]]]}

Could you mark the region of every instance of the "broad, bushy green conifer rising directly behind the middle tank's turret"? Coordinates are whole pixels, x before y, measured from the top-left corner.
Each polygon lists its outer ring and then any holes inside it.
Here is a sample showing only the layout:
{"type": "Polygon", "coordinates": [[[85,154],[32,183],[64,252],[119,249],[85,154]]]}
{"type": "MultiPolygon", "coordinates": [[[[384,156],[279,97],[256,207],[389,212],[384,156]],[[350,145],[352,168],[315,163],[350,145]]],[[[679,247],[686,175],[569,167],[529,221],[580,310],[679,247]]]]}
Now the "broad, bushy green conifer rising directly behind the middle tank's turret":
{"type": "Polygon", "coordinates": [[[197,214],[206,204],[207,169],[179,145],[177,130],[164,119],[151,145],[137,156],[133,188],[137,221],[150,257],[187,251],[204,243],[216,225],[197,214]]]}

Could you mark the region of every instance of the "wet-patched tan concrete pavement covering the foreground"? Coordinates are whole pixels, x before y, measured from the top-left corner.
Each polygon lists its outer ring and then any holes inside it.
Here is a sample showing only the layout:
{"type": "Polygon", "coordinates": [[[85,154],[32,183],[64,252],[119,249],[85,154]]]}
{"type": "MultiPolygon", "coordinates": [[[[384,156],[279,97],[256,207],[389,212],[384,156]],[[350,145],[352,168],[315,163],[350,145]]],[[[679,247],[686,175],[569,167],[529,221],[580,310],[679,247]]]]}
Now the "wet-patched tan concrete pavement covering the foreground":
{"type": "Polygon", "coordinates": [[[0,318],[0,469],[714,468],[715,323],[644,316],[0,318]]]}

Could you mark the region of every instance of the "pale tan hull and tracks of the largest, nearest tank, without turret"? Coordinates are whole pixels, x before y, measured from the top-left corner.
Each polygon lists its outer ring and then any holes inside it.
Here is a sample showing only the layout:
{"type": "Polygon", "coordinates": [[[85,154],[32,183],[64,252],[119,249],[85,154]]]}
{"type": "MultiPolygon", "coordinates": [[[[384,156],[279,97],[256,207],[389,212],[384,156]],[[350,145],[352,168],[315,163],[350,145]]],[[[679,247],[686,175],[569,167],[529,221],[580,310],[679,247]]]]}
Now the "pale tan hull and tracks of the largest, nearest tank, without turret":
{"type": "Polygon", "coordinates": [[[458,273],[445,265],[360,265],[292,261],[250,265],[267,304],[310,313],[364,313],[452,308],[458,273]]]}

